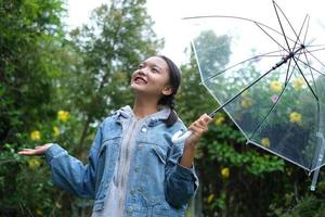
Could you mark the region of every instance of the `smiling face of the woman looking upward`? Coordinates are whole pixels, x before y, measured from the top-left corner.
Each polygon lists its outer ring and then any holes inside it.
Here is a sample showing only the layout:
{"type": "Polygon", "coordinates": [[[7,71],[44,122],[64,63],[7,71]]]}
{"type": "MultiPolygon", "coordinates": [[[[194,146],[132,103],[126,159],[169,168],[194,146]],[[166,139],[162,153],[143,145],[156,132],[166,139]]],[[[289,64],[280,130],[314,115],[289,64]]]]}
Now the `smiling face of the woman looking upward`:
{"type": "Polygon", "coordinates": [[[172,93],[169,69],[164,59],[152,56],[142,62],[132,74],[131,89],[135,94],[156,98],[172,93]]]}

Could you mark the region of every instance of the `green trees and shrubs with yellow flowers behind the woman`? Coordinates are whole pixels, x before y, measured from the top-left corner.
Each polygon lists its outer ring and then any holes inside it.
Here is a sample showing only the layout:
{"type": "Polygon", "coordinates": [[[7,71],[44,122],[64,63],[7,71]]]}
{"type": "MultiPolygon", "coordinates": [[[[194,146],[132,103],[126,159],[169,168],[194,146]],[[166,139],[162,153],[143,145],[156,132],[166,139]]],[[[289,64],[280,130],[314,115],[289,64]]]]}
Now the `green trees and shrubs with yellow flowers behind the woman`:
{"type": "MultiPolygon", "coordinates": [[[[89,215],[91,201],[54,187],[42,157],[16,153],[58,142],[87,163],[98,124],[132,104],[131,73],[164,47],[144,0],[112,1],[70,33],[63,5],[0,0],[0,216],[89,215]]],[[[177,110],[188,125],[217,103],[199,86],[190,48],[186,53],[177,110]]],[[[226,55],[220,53],[220,64],[226,55]]],[[[310,192],[303,170],[246,145],[224,113],[200,142],[196,170],[200,189],[187,216],[324,216],[324,174],[310,192]]]]}

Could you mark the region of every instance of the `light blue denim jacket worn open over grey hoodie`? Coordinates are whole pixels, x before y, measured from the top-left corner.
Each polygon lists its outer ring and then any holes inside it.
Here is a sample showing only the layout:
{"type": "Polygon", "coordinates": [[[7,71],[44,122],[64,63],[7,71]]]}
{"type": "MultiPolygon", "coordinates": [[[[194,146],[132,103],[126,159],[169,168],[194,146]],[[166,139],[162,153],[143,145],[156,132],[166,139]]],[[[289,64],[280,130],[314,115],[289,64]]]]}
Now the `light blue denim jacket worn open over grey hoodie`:
{"type": "MultiPolygon", "coordinates": [[[[120,111],[100,125],[87,165],[58,144],[46,152],[54,184],[75,195],[93,199],[93,210],[103,209],[118,161],[122,135],[120,111]]],[[[145,130],[135,138],[123,215],[184,216],[198,180],[193,167],[187,169],[179,164],[184,144],[173,144],[171,137],[186,128],[181,120],[167,127],[161,119],[148,119],[142,129],[145,130]]]]}

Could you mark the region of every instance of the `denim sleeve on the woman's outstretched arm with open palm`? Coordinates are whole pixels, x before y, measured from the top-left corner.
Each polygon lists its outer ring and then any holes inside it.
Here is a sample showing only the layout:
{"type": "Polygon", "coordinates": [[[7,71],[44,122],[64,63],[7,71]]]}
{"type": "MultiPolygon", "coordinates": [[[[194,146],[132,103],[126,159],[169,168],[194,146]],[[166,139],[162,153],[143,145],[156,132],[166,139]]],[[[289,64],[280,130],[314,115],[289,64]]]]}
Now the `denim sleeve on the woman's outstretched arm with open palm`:
{"type": "Polygon", "coordinates": [[[94,199],[96,162],[101,141],[102,127],[96,132],[87,165],[68,155],[67,151],[58,144],[51,145],[46,152],[46,159],[51,167],[54,184],[77,196],[94,199]]]}

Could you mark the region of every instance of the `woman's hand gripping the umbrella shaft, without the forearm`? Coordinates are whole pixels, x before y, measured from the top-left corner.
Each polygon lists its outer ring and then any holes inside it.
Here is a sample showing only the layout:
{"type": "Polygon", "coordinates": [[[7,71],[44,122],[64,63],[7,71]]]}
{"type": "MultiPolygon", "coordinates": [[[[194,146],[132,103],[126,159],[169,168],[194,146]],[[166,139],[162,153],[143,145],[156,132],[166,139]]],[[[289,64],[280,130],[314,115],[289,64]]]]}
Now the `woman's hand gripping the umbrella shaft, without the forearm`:
{"type": "Polygon", "coordinates": [[[198,143],[199,138],[208,131],[208,124],[212,118],[204,114],[197,120],[192,123],[187,130],[192,131],[192,135],[185,140],[185,146],[192,145],[193,148],[198,143]]]}

